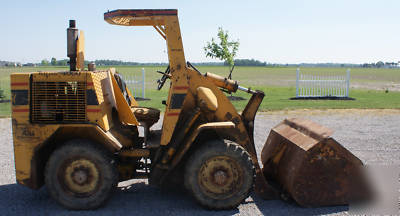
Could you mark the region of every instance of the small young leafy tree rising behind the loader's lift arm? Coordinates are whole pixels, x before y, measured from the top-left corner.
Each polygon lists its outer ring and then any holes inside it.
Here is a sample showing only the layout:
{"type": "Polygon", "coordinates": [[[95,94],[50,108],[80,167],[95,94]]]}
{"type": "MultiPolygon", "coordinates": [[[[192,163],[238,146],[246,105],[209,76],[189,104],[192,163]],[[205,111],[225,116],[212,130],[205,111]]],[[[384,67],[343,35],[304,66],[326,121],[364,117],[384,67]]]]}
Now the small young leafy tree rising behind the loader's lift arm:
{"type": "Polygon", "coordinates": [[[217,36],[219,42],[217,43],[214,38],[211,38],[211,41],[207,42],[207,46],[204,47],[204,51],[206,57],[217,58],[225,61],[229,65],[228,79],[231,79],[232,71],[235,68],[234,58],[239,49],[239,40],[229,41],[228,31],[224,31],[222,27],[218,28],[217,36]]]}

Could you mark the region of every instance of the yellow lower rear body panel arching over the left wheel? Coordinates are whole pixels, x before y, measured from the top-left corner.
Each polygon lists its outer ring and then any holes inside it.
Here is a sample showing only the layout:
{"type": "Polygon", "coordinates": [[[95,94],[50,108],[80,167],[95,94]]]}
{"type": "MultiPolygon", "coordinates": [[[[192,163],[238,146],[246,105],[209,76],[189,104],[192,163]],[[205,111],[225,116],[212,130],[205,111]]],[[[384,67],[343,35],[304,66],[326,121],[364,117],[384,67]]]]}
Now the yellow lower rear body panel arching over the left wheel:
{"type": "Polygon", "coordinates": [[[90,124],[19,124],[13,119],[13,131],[17,182],[33,189],[43,183],[44,166],[50,153],[67,140],[92,140],[111,152],[122,148],[111,133],[90,124]]]}

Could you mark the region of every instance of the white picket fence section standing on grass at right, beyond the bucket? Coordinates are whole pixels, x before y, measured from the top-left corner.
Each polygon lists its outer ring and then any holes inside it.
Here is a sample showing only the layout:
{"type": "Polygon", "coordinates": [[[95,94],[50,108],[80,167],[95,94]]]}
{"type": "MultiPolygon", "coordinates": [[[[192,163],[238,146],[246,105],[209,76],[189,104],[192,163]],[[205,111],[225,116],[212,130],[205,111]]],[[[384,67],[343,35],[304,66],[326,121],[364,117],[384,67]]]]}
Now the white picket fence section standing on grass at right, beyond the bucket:
{"type": "Polygon", "coordinates": [[[302,73],[296,70],[296,98],[349,97],[350,69],[346,74],[302,73]]]}

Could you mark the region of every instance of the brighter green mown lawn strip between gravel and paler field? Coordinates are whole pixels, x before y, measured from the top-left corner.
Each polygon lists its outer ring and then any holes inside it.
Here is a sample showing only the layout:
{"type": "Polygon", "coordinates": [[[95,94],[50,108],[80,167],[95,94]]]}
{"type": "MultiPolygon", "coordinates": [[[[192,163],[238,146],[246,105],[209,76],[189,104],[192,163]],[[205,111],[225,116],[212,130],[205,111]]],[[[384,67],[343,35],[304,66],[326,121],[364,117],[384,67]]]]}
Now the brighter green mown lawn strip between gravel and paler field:
{"type": "MultiPolygon", "coordinates": [[[[400,109],[400,92],[388,92],[377,90],[352,90],[350,97],[355,100],[290,100],[295,96],[296,88],[293,87],[258,87],[254,88],[266,93],[261,111],[293,110],[293,109],[400,109]]],[[[148,90],[150,101],[139,101],[142,106],[165,109],[161,104],[167,95],[166,90],[148,90]]],[[[251,95],[238,92],[235,96],[241,96],[246,100],[233,101],[237,110],[243,110],[251,95]]]]}

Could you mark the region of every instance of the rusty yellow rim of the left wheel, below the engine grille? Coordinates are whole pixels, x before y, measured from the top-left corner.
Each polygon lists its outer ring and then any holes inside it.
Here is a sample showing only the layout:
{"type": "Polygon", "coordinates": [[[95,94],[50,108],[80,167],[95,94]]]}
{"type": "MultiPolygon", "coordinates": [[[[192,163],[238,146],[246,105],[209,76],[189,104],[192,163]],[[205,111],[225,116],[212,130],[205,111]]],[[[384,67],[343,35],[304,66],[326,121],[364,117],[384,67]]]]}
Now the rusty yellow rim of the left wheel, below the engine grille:
{"type": "Polygon", "coordinates": [[[100,186],[100,172],[95,163],[88,159],[65,161],[58,178],[63,189],[77,197],[87,197],[100,186]]]}

